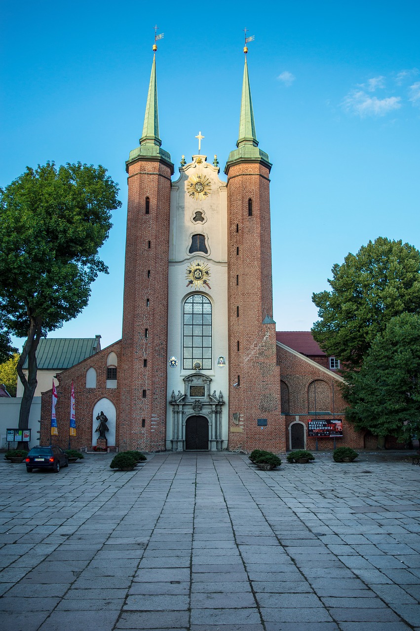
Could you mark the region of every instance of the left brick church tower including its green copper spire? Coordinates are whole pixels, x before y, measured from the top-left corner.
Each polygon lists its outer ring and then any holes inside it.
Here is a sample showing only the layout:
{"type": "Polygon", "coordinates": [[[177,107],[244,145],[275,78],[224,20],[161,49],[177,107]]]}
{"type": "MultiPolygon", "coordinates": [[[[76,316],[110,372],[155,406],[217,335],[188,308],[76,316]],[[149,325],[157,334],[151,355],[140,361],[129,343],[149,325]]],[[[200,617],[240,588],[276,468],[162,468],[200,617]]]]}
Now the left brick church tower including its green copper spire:
{"type": "Polygon", "coordinates": [[[159,138],[156,62],[140,146],[129,154],[120,449],[165,449],[168,256],[174,165],[159,138]]]}

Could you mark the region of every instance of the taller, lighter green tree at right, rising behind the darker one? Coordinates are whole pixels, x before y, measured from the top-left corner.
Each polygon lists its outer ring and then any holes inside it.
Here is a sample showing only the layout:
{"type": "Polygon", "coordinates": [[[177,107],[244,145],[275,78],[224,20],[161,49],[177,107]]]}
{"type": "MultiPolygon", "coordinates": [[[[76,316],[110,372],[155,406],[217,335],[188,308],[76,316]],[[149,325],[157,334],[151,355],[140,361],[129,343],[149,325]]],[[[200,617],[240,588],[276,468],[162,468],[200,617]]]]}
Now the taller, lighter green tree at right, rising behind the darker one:
{"type": "Polygon", "coordinates": [[[332,291],[314,293],[320,321],[312,334],[327,355],[357,370],[395,315],[420,312],[420,252],[378,237],[332,268],[332,291]]]}

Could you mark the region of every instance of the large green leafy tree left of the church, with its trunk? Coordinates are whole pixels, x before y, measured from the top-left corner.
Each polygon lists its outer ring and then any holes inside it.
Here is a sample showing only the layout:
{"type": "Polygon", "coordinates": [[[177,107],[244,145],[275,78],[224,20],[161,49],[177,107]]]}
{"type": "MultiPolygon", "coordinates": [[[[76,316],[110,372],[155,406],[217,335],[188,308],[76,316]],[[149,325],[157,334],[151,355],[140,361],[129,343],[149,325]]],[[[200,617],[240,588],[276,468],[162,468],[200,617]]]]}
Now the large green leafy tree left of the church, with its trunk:
{"type": "Polygon", "coordinates": [[[28,427],[41,337],[88,304],[107,267],[98,249],[108,237],[118,188],[104,167],[66,164],[26,172],[0,190],[0,314],[26,338],[17,370],[23,384],[19,427],[28,427]],[[23,364],[28,360],[28,378],[23,364]]]}

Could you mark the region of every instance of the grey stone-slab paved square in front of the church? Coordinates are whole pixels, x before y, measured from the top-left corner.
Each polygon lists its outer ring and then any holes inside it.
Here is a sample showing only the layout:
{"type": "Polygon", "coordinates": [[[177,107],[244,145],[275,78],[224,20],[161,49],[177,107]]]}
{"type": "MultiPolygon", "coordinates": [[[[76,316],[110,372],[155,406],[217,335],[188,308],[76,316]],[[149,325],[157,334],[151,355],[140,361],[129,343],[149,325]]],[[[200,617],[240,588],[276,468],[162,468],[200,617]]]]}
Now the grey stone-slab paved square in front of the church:
{"type": "MultiPolygon", "coordinates": [[[[0,457],[1,458],[1,457],[0,457]]],[[[165,453],[0,461],[4,631],[420,630],[420,467],[165,453]]]]}

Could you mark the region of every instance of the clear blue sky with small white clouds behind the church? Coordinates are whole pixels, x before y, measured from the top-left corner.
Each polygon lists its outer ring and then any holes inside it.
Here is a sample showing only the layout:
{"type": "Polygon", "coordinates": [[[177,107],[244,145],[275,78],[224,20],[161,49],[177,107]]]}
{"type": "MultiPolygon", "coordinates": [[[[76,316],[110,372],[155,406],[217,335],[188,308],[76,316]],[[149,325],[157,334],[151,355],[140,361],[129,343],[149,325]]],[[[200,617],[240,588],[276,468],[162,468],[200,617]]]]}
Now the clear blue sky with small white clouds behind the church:
{"type": "Polygon", "coordinates": [[[335,262],[378,236],[420,247],[420,4],[369,0],[176,4],[3,3],[0,186],[27,165],[102,164],[123,207],[102,248],[109,276],[52,336],[121,337],[125,160],[138,146],[157,52],[162,146],[235,147],[243,28],[256,132],[273,163],[273,317],[308,330],[335,262]],[[261,9],[262,7],[262,9],[261,9]]]}

